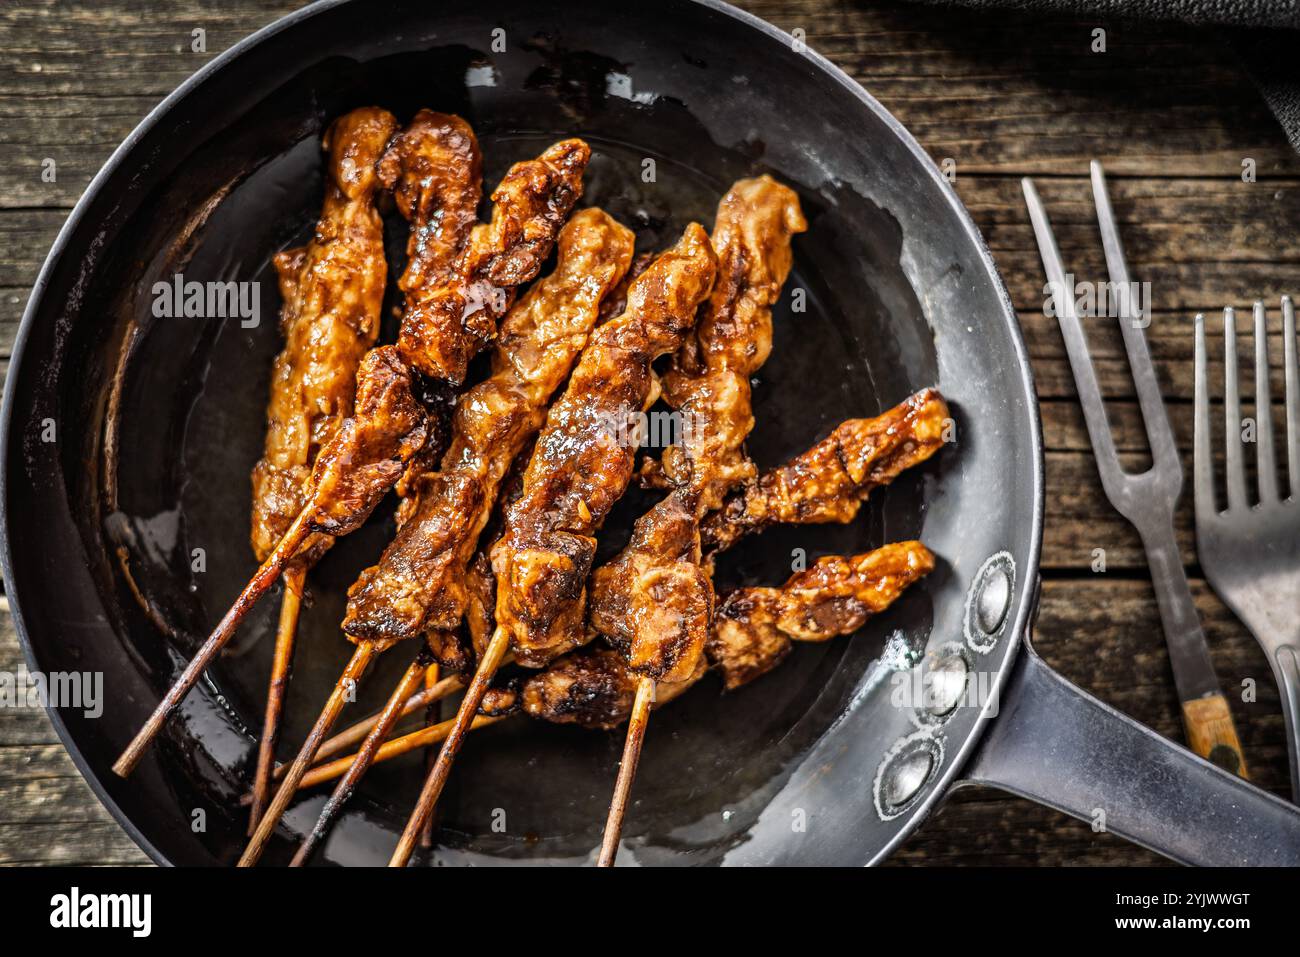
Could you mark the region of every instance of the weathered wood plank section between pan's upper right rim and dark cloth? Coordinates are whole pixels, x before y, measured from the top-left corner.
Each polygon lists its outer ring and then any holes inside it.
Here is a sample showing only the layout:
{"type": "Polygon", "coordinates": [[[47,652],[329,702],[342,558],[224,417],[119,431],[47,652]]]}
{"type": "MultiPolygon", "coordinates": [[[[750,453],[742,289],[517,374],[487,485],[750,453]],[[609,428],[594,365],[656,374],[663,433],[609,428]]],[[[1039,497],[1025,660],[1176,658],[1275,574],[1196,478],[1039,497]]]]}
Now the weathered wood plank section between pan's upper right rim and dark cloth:
{"type": "Polygon", "coordinates": [[[744,4],[844,68],[959,169],[1238,176],[1300,164],[1221,38],[1173,23],[853,0],[744,4]],[[1093,53],[1092,31],[1106,30],[1093,53]]]}

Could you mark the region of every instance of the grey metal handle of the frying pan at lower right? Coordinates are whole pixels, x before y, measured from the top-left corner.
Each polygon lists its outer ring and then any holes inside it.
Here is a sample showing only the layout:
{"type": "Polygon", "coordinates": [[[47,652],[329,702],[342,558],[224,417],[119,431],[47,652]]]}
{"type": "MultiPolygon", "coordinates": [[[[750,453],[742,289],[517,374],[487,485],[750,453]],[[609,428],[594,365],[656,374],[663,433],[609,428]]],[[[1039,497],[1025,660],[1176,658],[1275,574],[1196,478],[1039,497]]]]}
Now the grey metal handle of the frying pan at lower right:
{"type": "Polygon", "coordinates": [[[1300,866],[1300,809],[1074,687],[1030,642],[966,767],[1182,863],[1300,866]]]}

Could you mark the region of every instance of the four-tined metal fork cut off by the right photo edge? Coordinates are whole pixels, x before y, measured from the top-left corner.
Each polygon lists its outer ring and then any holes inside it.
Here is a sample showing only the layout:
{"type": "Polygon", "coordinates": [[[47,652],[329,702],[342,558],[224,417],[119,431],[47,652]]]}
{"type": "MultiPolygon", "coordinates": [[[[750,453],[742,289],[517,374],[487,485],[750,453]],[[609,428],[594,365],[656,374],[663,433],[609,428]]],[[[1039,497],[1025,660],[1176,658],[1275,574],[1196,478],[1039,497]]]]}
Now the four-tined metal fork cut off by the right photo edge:
{"type": "Polygon", "coordinates": [[[1269,403],[1268,316],[1254,304],[1254,446],[1258,503],[1247,501],[1245,430],[1238,386],[1236,313],[1223,311],[1223,423],[1227,510],[1214,495],[1210,400],[1205,372],[1205,317],[1196,317],[1196,551],[1205,577],[1269,658],[1282,696],[1291,762],[1291,794],[1300,802],[1300,369],[1296,317],[1282,299],[1286,365],[1287,498],[1278,492],[1269,403]]]}

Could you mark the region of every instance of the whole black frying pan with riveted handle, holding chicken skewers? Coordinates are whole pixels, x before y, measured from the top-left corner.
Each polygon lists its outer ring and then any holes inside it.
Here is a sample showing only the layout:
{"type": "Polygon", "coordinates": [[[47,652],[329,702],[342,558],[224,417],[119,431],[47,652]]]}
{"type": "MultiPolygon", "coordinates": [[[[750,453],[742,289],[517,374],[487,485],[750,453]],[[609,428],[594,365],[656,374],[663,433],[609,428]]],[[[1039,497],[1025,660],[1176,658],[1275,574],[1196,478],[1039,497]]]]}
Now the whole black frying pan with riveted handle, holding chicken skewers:
{"type": "MultiPolygon", "coordinates": [[[[784,580],[796,549],[811,559],[919,537],[940,557],[854,638],[800,648],[727,697],[706,681],[659,711],[625,861],[874,862],[948,788],[976,780],[1080,817],[1104,810],[1112,831],[1178,859],[1300,862],[1295,809],[1020,648],[1043,527],[1034,386],[1011,306],[952,189],[826,60],[750,16],[686,0],[312,7],[169,96],[69,217],[9,372],[4,575],[32,668],[104,672],[101,718],[58,709],[53,720],[155,859],[229,863],[243,845],[237,798],[255,758],[274,599],[136,774],[124,781],[108,768],[254,568],[248,471],[280,346],[269,261],[316,218],[321,130],[369,103],[465,116],[488,182],[559,137],[585,137],[595,155],[584,202],[636,226],[641,248],[667,246],[692,218],[710,225],[737,177],[770,172],[798,189],[810,229],[789,289],[805,291],[806,309],[789,294],[777,309],[755,390],[759,464],[927,385],[957,416],[954,447],[854,524],[775,529],[725,562],[722,588],[784,580]],[[152,286],[177,273],[259,280],[260,325],[155,317],[152,286]],[[43,441],[51,423],[55,441],[43,441]],[[953,694],[910,694],[906,679],[927,671],[953,694]]],[[[396,261],[404,231],[391,228],[396,261]]],[[[608,550],[645,505],[630,494],[611,518],[608,550]]],[[[348,654],[343,592],[390,533],[390,514],[377,515],[313,572],[290,744],[348,654]]],[[[356,713],[382,700],[410,653],[385,657],[356,713]]],[[[424,859],[593,859],[620,746],[618,732],[524,718],[476,732],[424,859]]],[[[320,859],[386,861],[420,767],[412,757],[374,768],[320,859]]],[[[309,826],[322,800],[290,811],[268,861],[283,859],[286,832],[309,826]]]]}

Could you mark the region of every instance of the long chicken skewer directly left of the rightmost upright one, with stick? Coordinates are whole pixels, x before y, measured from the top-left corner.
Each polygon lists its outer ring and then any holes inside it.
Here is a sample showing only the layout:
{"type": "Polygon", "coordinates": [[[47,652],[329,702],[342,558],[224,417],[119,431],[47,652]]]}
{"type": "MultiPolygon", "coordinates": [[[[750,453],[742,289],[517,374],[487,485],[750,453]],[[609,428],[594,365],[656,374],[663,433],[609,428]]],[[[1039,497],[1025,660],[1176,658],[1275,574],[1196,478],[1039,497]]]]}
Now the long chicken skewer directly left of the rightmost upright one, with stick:
{"type": "Polygon", "coordinates": [[[506,531],[493,547],[497,629],[478,661],[452,731],[425,779],[390,863],[404,866],[446,784],[456,752],[502,658],[541,664],[582,640],[594,533],[632,477],[637,416],[653,400],[650,364],[694,325],[718,257],[698,224],[632,283],[621,316],[590,337],[551,406],[506,531]]]}

